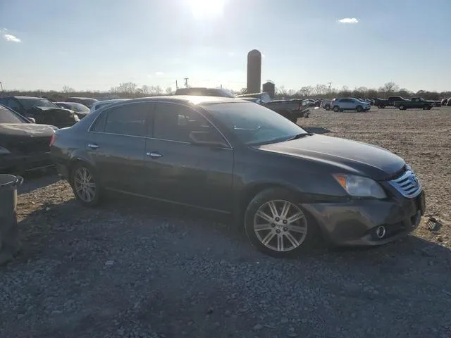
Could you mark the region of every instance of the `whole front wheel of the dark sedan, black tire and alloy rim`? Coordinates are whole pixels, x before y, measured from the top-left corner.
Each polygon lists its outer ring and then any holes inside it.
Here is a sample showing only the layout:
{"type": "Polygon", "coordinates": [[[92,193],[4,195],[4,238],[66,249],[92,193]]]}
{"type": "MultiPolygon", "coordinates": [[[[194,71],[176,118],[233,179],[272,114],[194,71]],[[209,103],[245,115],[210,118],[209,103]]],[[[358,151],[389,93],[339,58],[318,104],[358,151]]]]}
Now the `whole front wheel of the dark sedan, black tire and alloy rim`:
{"type": "Polygon", "coordinates": [[[245,231],[259,251],[273,257],[294,256],[312,249],[317,227],[287,189],[266,189],[249,203],[245,231]]]}

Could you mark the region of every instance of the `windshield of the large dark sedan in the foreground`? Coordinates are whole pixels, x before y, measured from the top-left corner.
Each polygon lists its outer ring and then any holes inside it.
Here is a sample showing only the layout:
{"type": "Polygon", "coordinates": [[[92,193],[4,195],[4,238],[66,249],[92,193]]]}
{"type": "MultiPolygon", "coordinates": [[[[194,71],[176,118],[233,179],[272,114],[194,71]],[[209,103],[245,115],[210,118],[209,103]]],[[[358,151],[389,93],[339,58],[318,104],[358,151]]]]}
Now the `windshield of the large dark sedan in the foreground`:
{"type": "Polygon", "coordinates": [[[202,107],[249,146],[283,142],[308,134],[282,115],[252,102],[204,104],[202,107]]]}

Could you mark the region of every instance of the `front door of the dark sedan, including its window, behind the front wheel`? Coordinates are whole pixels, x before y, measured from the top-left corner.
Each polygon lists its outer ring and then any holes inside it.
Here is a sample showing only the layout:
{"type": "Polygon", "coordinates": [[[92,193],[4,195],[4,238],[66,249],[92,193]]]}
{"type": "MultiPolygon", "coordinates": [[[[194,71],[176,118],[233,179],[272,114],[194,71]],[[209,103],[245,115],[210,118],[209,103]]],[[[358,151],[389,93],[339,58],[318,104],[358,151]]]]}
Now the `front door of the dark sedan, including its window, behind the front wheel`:
{"type": "Polygon", "coordinates": [[[156,199],[231,211],[234,151],[204,115],[181,104],[156,103],[146,142],[146,194],[156,199]],[[216,146],[193,142],[207,135],[216,146]]]}

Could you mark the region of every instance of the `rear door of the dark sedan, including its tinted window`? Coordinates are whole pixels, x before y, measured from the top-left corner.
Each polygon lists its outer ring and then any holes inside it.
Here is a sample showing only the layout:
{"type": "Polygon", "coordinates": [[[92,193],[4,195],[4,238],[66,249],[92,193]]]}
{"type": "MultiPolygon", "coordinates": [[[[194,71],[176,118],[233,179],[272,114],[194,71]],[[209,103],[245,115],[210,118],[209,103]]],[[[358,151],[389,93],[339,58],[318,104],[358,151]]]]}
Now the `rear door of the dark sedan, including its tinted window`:
{"type": "Polygon", "coordinates": [[[142,191],[151,108],[147,102],[106,108],[92,125],[86,151],[104,187],[131,193],[142,191]]]}

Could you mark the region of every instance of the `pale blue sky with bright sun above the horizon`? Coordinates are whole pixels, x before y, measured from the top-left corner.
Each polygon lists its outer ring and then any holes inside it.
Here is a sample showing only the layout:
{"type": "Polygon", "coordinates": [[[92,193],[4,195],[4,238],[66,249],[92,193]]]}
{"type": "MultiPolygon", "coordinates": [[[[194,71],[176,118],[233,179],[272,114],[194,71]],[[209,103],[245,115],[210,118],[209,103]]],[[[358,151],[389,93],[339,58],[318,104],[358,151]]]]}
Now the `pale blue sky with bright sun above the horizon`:
{"type": "Polygon", "coordinates": [[[451,0],[0,0],[4,89],[121,82],[451,90],[451,0]]]}

